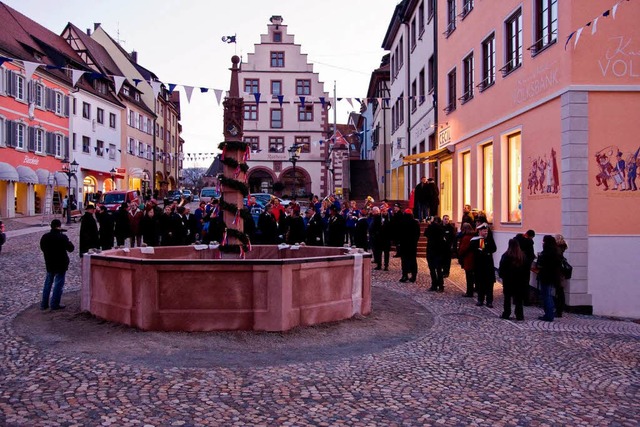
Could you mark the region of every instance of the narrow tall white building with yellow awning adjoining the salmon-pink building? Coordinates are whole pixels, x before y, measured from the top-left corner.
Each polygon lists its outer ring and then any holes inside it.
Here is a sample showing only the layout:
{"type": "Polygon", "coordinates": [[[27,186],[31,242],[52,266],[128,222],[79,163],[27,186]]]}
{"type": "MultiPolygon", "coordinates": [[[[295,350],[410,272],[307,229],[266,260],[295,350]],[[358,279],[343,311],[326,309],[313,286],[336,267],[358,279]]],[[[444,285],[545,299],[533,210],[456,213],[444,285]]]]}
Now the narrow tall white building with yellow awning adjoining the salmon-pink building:
{"type": "Polygon", "coordinates": [[[429,168],[435,145],[435,1],[396,6],[382,47],[390,53],[391,183],[393,199],[409,197],[429,168]]]}

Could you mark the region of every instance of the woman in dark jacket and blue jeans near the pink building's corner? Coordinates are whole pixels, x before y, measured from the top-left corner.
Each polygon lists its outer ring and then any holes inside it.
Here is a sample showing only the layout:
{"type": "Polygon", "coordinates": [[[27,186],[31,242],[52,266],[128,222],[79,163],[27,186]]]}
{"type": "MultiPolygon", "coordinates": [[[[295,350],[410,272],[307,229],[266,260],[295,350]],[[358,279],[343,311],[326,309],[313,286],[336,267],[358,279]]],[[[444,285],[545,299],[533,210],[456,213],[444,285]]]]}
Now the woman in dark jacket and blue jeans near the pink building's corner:
{"type": "Polygon", "coordinates": [[[546,322],[553,322],[555,307],[553,304],[552,290],[560,286],[562,282],[562,255],[558,249],[556,239],[551,235],[546,235],[542,239],[542,252],[538,254],[536,260],[536,270],[538,273],[538,283],[542,294],[544,316],[539,319],[546,322]]]}

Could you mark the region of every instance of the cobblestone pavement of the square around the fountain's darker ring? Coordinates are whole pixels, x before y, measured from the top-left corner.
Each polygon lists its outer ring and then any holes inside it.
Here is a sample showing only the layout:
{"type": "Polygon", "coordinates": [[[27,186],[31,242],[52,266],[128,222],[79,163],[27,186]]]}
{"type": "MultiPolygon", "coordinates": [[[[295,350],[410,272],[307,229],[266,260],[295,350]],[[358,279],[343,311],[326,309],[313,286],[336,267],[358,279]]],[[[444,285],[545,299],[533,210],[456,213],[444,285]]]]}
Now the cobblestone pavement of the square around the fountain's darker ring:
{"type": "MultiPolygon", "coordinates": [[[[69,226],[75,242],[78,228],[69,226]]],[[[45,230],[12,234],[0,254],[0,425],[640,425],[640,325],[575,314],[546,323],[537,307],[505,321],[500,286],[496,308],[476,307],[453,267],[445,292],[428,292],[424,260],[415,284],[398,283],[398,259],[373,272],[376,292],[406,296],[422,307],[416,316],[434,319],[380,351],[183,368],[42,348],[15,322],[39,301],[45,230]]],[[[79,289],[78,272],[75,252],[66,292],[79,289]]],[[[42,313],[69,327],[52,314],[42,313]]]]}

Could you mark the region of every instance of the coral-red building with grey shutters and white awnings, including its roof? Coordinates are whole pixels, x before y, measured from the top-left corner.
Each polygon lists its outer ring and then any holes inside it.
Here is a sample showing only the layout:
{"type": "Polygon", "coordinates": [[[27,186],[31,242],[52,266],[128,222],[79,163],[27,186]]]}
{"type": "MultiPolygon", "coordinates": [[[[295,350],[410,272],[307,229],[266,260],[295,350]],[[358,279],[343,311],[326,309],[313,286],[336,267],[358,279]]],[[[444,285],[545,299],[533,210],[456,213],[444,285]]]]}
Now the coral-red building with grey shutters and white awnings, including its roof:
{"type": "Polygon", "coordinates": [[[67,191],[58,172],[69,154],[72,82],[61,68],[86,65],[60,36],[4,3],[0,22],[0,216],[10,218],[40,213],[47,185],[67,191]]]}

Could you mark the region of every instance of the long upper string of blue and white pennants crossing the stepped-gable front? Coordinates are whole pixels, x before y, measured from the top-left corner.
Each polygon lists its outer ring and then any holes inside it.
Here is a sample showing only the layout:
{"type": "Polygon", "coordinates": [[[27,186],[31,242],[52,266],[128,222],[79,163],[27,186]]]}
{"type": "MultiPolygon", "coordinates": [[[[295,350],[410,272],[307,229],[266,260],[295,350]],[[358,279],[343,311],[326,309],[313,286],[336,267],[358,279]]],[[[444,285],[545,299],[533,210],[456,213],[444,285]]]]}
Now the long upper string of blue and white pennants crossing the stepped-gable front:
{"type": "MultiPolygon", "coordinates": [[[[65,68],[65,67],[59,67],[57,65],[46,65],[46,64],[42,64],[42,63],[38,63],[38,62],[31,62],[31,61],[25,61],[22,59],[17,59],[17,58],[10,58],[7,56],[0,56],[0,66],[2,64],[4,64],[5,62],[22,62],[23,66],[24,66],[24,70],[25,70],[25,74],[26,74],[26,78],[27,80],[31,80],[31,78],[33,77],[33,74],[35,73],[35,71],[39,68],[39,67],[44,67],[48,70],[52,70],[52,69],[56,69],[56,70],[62,70],[62,71],[69,71],[71,72],[71,82],[72,82],[72,86],[75,87],[75,85],[78,83],[78,81],[80,80],[80,78],[82,78],[82,76],[84,76],[85,74],[89,75],[89,78],[92,79],[96,79],[96,78],[112,78],[113,81],[115,82],[115,91],[116,93],[120,93],[120,89],[122,88],[122,85],[124,84],[125,80],[127,80],[127,77],[124,76],[117,76],[117,75],[111,75],[111,74],[102,74],[99,73],[97,71],[87,71],[87,70],[77,70],[74,68],[65,68]]],[[[153,90],[153,94],[154,94],[154,98],[157,98],[158,95],[160,94],[160,91],[162,89],[162,86],[164,85],[169,93],[173,93],[174,90],[176,90],[176,88],[178,86],[182,86],[182,88],[184,89],[184,93],[187,97],[187,102],[191,102],[191,96],[193,94],[193,91],[195,89],[198,89],[200,91],[200,93],[208,93],[208,92],[213,92],[215,97],[216,97],[216,101],[218,103],[218,106],[220,106],[222,104],[222,95],[223,94],[227,94],[228,91],[223,90],[223,89],[213,89],[213,88],[208,88],[208,87],[196,87],[196,86],[188,86],[188,85],[178,85],[177,83],[163,83],[159,80],[143,80],[143,79],[130,79],[131,81],[133,81],[133,83],[135,84],[136,87],[138,87],[138,85],[140,83],[142,83],[143,81],[146,82],[147,84],[149,84],[151,86],[151,89],[153,90]]],[[[260,92],[243,92],[243,94],[245,96],[248,97],[252,97],[253,96],[253,100],[255,100],[256,104],[260,103],[260,98],[262,96],[262,93],[260,92]]],[[[322,104],[322,108],[325,108],[327,103],[330,102],[331,99],[334,98],[329,98],[327,99],[324,96],[320,96],[320,97],[312,97],[312,96],[297,96],[297,97],[285,97],[284,95],[276,95],[275,98],[278,100],[278,103],[280,104],[280,106],[282,106],[283,104],[295,104],[295,103],[300,103],[300,105],[302,106],[302,108],[304,108],[304,106],[306,105],[306,103],[313,103],[314,101],[318,101],[320,102],[320,104],[322,104]]],[[[398,99],[402,99],[403,97],[398,97],[398,99]]],[[[408,96],[406,97],[409,100],[412,99],[417,99],[417,98],[421,98],[421,100],[423,100],[424,96],[421,97],[417,97],[417,96],[408,96]]],[[[377,100],[379,105],[382,105],[382,102],[385,103],[385,106],[389,105],[389,101],[391,100],[391,98],[354,98],[354,97],[338,97],[337,98],[338,101],[342,101],[345,100],[349,103],[349,105],[351,105],[352,108],[354,108],[354,104],[353,102],[357,102],[358,104],[367,104],[372,102],[373,100],[377,100]]]]}

